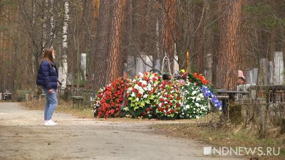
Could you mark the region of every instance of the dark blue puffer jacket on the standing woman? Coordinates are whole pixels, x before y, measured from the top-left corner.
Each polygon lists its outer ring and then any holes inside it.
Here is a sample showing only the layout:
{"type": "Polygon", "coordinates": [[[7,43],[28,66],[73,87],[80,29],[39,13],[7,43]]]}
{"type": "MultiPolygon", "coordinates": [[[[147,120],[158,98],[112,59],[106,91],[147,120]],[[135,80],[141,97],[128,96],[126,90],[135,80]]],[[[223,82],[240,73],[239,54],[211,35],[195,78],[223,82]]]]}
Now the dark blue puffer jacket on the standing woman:
{"type": "Polygon", "coordinates": [[[56,64],[49,63],[46,60],[41,61],[38,68],[38,75],[36,78],[36,85],[41,85],[46,89],[56,89],[58,87],[58,70],[56,64]]]}

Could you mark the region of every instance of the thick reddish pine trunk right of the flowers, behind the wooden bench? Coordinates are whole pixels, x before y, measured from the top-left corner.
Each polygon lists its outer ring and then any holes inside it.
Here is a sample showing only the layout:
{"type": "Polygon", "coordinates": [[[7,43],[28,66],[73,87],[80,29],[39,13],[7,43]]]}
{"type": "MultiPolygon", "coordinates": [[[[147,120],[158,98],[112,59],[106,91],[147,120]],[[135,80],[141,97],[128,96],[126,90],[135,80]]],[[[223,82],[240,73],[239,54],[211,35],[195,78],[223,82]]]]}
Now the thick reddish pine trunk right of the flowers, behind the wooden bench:
{"type": "Polygon", "coordinates": [[[242,12],[242,0],[225,1],[222,17],[221,45],[217,87],[226,90],[237,90],[237,71],[239,70],[239,31],[242,12]]]}

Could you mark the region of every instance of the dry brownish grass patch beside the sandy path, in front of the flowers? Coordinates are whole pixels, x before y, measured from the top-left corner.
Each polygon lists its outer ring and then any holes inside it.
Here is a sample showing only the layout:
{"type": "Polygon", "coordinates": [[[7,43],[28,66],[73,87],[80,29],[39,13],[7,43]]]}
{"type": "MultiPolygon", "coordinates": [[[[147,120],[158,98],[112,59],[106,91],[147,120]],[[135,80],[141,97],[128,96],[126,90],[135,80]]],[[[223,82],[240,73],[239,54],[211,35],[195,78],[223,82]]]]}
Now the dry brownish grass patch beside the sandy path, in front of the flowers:
{"type": "MultiPolygon", "coordinates": [[[[285,135],[274,135],[266,139],[258,139],[254,129],[242,129],[242,125],[220,127],[214,129],[209,126],[201,126],[199,121],[187,124],[154,124],[158,134],[166,134],[170,137],[182,137],[195,139],[211,146],[227,147],[280,147],[279,156],[261,156],[259,159],[285,159],[285,135]]],[[[273,135],[273,134],[272,134],[273,135]]],[[[278,151],[276,151],[278,153],[278,151]]]]}

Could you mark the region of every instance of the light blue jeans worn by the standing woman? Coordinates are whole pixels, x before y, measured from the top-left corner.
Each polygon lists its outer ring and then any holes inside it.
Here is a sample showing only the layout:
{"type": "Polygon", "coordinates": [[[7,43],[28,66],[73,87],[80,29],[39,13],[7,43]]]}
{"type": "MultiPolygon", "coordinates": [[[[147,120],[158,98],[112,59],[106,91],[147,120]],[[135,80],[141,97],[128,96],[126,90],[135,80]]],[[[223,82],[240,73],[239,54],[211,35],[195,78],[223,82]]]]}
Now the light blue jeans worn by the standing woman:
{"type": "Polygon", "coordinates": [[[56,90],[53,89],[53,93],[49,93],[48,89],[43,88],[46,92],[46,109],[44,112],[44,119],[49,120],[53,116],[53,111],[56,109],[56,105],[58,105],[58,100],[56,99],[56,90]]]}

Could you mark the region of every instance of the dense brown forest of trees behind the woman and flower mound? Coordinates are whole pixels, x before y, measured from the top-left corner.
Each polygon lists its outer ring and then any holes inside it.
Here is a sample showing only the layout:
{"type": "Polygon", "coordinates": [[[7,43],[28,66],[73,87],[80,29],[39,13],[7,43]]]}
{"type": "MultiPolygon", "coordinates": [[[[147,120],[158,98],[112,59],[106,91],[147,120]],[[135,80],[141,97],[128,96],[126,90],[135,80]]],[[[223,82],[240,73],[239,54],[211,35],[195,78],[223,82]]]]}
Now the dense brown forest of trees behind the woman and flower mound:
{"type": "Polygon", "coordinates": [[[180,69],[236,90],[237,70],[284,53],[284,29],[282,0],[0,0],[0,92],[35,90],[50,46],[63,87],[98,90],[123,75],[131,55],[151,55],[155,68],[166,54],[171,66],[177,55],[180,69]]]}

